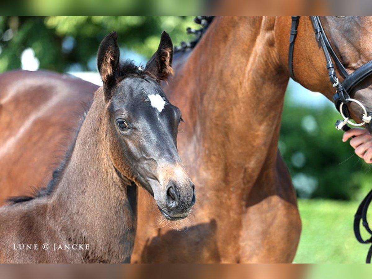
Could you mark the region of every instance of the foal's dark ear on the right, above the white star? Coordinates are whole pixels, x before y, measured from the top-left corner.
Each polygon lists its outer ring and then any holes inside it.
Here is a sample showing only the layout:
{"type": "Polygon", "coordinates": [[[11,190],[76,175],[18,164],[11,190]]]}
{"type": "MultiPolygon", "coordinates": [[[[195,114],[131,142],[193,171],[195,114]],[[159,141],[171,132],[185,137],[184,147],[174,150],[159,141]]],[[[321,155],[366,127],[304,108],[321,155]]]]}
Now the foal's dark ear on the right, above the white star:
{"type": "Polygon", "coordinates": [[[167,32],[161,33],[158,50],[148,60],[145,70],[160,82],[166,80],[169,75],[173,75],[172,69],[173,44],[167,32]]]}

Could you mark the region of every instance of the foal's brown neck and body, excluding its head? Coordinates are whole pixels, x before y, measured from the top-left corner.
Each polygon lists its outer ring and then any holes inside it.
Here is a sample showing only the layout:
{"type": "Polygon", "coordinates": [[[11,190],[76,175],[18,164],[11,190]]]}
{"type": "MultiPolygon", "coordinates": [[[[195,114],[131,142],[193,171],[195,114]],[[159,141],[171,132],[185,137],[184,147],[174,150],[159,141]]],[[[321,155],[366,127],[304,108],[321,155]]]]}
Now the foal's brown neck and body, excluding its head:
{"type": "Polygon", "coordinates": [[[53,192],[0,209],[0,262],[121,263],[129,259],[136,219],[127,189],[135,186],[123,185],[105,155],[109,153],[105,110],[103,90],[98,90],[53,192]],[[13,250],[13,243],[38,244],[39,249],[13,250]],[[43,243],[89,244],[89,250],[43,250],[43,243]]]}

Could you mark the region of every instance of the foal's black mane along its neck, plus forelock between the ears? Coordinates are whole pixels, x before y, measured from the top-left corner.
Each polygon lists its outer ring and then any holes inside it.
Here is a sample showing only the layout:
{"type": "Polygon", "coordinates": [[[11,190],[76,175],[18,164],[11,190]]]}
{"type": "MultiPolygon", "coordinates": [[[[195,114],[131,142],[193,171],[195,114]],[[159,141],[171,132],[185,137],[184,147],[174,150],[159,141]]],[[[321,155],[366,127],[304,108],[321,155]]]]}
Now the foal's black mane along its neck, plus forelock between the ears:
{"type": "MultiPolygon", "coordinates": [[[[147,74],[148,73],[146,73],[144,70],[142,70],[141,67],[137,67],[134,64],[133,61],[126,60],[124,63],[121,63],[119,65],[119,69],[117,71],[116,80],[117,80],[117,82],[120,82],[121,80],[123,80],[124,78],[127,78],[127,77],[139,77],[139,78],[143,78],[147,74]]],[[[100,90],[100,89],[102,89],[102,87],[100,87],[97,90],[100,90]]],[[[9,203],[10,205],[12,205],[12,204],[16,204],[16,203],[22,203],[22,202],[31,201],[31,200],[36,199],[36,198],[41,198],[41,197],[49,196],[54,191],[55,187],[58,185],[58,182],[60,182],[60,180],[61,180],[61,177],[62,177],[62,175],[64,173],[64,170],[66,169],[68,163],[70,162],[71,155],[72,155],[72,153],[74,151],[74,148],[75,148],[77,136],[79,134],[80,128],[83,125],[83,122],[84,122],[84,120],[85,120],[85,118],[87,116],[88,110],[89,110],[89,108],[90,108],[91,105],[92,105],[92,103],[83,104],[83,106],[84,106],[84,114],[83,114],[83,117],[81,118],[81,120],[79,122],[79,125],[77,126],[77,128],[75,130],[73,142],[68,147],[68,150],[65,153],[64,159],[60,162],[60,164],[57,167],[57,169],[55,169],[53,171],[52,179],[49,180],[47,186],[41,187],[39,189],[35,189],[30,196],[25,195],[25,196],[10,197],[10,198],[6,199],[6,202],[7,203],[9,203]]]]}

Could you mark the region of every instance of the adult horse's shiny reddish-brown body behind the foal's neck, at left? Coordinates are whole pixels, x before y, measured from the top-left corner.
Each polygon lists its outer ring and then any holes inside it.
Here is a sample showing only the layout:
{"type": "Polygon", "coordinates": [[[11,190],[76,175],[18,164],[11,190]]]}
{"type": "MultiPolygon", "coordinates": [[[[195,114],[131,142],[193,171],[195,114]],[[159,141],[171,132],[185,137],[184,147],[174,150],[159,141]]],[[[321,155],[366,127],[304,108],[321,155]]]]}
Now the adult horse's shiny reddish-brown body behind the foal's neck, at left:
{"type": "Polygon", "coordinates": [[[0,205],[45,185],[98,86],[47,71],[0,75],[0,205]]]}

